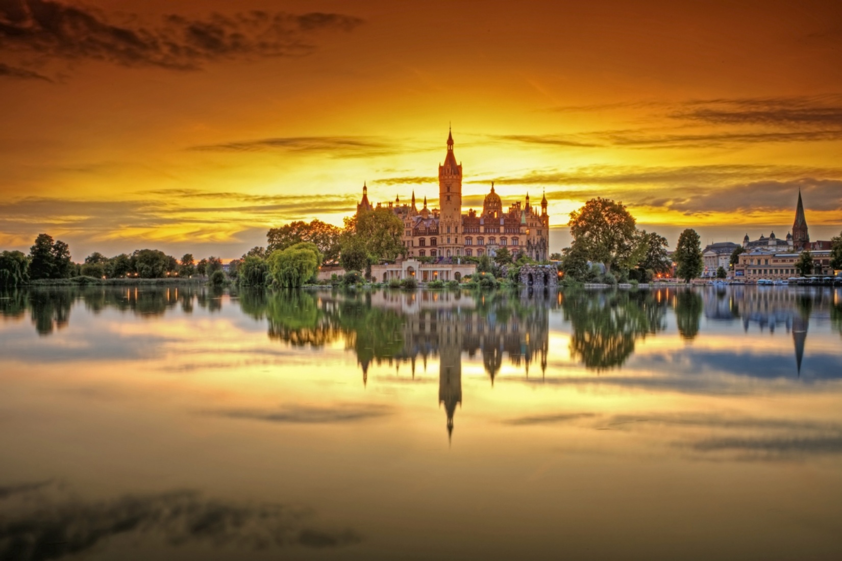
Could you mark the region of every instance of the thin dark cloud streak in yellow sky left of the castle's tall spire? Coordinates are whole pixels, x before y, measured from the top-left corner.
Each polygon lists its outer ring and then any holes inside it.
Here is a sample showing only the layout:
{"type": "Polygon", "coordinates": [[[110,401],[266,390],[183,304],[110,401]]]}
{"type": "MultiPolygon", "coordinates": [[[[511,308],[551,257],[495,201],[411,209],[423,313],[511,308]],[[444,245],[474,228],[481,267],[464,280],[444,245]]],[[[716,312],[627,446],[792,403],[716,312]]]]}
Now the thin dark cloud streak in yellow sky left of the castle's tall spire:
{"type": "Polygon", "coordinates": [[[317,152],[331,157],[344,158],[387,156],[402,151],[399,146],[393,143],[387,143],[386,140],[370,136],[290,136],[190,146],[188,150],[215,152],[317,152]]]}

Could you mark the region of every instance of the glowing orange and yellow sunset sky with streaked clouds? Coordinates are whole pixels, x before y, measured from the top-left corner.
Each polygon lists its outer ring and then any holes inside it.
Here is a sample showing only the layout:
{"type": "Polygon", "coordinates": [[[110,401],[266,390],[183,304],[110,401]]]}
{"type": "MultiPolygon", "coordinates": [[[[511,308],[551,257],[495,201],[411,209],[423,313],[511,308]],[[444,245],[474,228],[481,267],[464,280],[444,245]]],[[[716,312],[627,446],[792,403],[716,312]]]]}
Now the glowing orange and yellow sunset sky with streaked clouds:
{"type": "Polygon", "coordinates": [[[842,230],[842,3],[0,0],[0,249],[239,257],[491,182],[703,244],[842,230]]]}

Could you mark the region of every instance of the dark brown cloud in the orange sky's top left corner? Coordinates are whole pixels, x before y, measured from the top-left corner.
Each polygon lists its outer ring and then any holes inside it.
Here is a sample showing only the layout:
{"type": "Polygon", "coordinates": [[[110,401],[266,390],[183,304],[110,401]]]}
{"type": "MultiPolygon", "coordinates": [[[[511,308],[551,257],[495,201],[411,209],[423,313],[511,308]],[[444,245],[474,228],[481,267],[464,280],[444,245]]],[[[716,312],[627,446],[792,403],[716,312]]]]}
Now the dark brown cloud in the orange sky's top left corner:
{"type": "Polygon", "coordinates": [[[108,61],[120,66],[196,70],[210,61],[302,56],[322,31],[363,23],[338,13],[240,12],[206,19],[168,15],[157,26],[114,24],[104,13],[54,0],[3,0],[0,49],[44,59],[108,61]]]}

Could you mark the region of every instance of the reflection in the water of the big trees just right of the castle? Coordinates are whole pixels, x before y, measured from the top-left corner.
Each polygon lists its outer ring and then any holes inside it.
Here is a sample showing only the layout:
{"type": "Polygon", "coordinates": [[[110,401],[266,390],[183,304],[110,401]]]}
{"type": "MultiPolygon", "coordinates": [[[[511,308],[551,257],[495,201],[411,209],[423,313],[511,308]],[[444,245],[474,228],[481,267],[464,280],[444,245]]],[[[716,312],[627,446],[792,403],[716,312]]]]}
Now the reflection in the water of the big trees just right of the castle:
{"type": "Polygon", "coordinates": [[[562,310],[570,321],[570,352],[598,372],[620,367],[635,341],[666,328],[669,290],[626,290],[564,294],[562,310]]]}

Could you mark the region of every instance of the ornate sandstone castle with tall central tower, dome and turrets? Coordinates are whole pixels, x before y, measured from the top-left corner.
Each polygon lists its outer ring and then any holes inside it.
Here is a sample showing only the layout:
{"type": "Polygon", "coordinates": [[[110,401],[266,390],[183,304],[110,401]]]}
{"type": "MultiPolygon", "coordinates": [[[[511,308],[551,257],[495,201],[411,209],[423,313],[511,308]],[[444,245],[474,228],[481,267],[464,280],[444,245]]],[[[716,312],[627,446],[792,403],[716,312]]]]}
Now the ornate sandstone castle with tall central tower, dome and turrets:
{"type": "MultiPolygon", "coordinates": [[[[453,153],[453,134],[447,136],[447,153],[444,164],[439,166],[440,209],[424,207],[418,210],[413,191],[411,204],[401,204],[400,197],[388,203],[403,221],[403,245],[408,257],[436,257],[443,262],[457,257],[492,256],[503,247],[513,254],[525,253],[536,261],[546,261],[549,255],[550,215],[546,213],[546,195],[541,198],[541,211],[530,204],[526,194],[525,204],[520,201],[504,210],[503,201],[494,192],[486,195],[482,213],[469,209],[462,214],[462,166],[456,163],[453,153]]],[[[381,209],[369,201],[368,187],[363,185],[363,197],[357,204],[357,213],[381,209]]]]}

